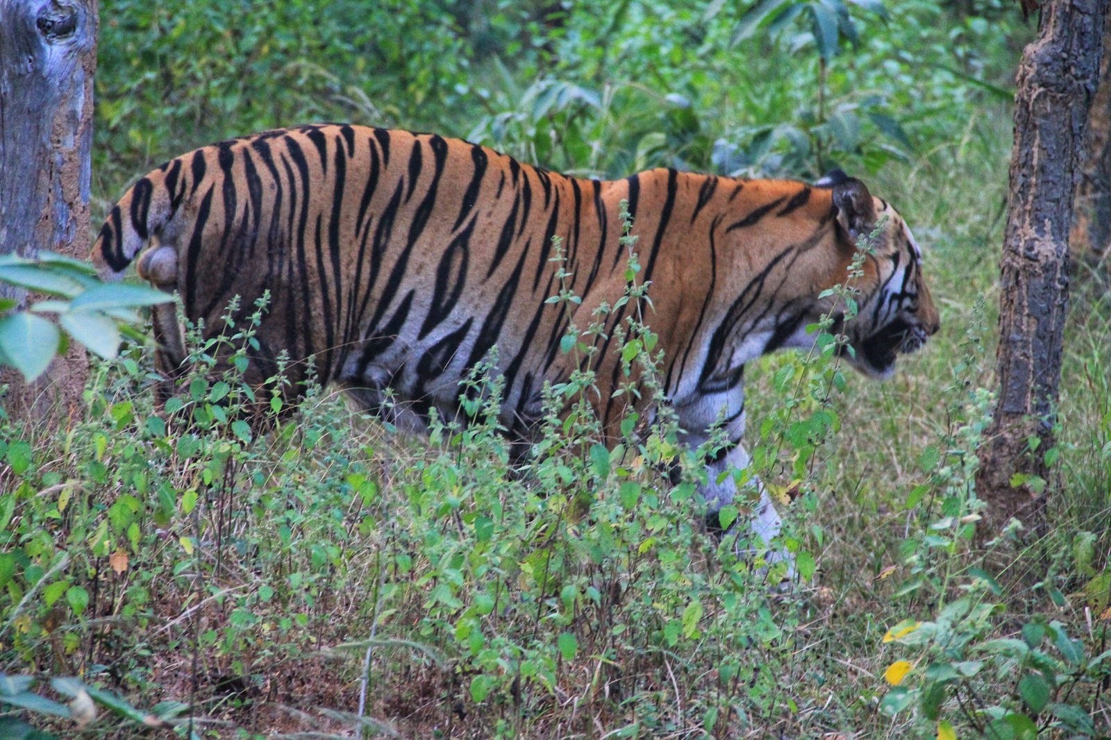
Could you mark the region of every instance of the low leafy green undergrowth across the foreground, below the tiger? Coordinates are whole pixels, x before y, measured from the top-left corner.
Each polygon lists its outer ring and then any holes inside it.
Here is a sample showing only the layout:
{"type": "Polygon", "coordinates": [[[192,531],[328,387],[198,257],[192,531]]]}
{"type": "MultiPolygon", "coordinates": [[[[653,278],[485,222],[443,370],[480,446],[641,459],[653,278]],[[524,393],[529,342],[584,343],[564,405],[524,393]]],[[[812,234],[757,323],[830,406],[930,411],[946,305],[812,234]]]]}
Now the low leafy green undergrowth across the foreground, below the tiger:
{"type": "MultiPolygon", "coordinates": [[[[625,392],[657,394],[650,289],[627,246],[637,310],[617,351],[625,392]]],[[[852,297],[849,274],[837,299],[852,297]]],[[[317,386],[290,406],[280,372],[246,387],[264,302],[223,337],[194,332],[161,411],[132,348],[98,366],[68,429],[0,427],[0,702],[30,712],[0,722],[16,737],[143,722],[197,738],[1105,734],[1105,518],[1059,517],[1002,571],[973,539],[985,304],[953,331],[939,413],[890,459],[871,512],[841,516],[870,476],[843,451],[882,437],[859,438],[843,340],[824,322],[814,351],[767,363],[773,401],[748,436],[752,470],[733,474],[797,499],[782,593],[759,554],[700,523],[710,450],[682,450],[667,413],[629,414],[603,444],[589,373],[548,389],[540,441],[511,464],[496,357],[461,388],[470,422],[433,417],[412,440],[317,386]],[[246,420],[258,408],[268,424],[246,420]],[[1012,586],[1017,569],[1037,577],[1012,586]],[[116,717],[90,723],[90,704],[116,717]]],[[[595,351],[604,318],[564,351],[595,351]]],[[[1101,434],[1107,398],[1090,401],[1101,434]]],[[[1085,461],[1107,442],[1061,447],[1062,497],[1098,507],[1080,486],[1105,480],[1085,461]]],[[[743,522],[745,502],[722,521],[743,522]]]]}

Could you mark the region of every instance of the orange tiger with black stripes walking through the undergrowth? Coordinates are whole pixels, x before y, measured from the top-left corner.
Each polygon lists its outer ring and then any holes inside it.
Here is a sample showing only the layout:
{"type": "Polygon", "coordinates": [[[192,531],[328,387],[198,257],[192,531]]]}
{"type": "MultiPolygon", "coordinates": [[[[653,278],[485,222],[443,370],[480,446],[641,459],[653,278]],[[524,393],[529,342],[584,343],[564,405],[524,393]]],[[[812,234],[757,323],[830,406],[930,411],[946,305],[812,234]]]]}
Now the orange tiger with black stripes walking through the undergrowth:
{"type": "MultiPolygon", "coordinates": [[[[92,259],[119,276],[149,243],[139,276],[180,294],[206,336],[223,330],[233,297],[250,307],[269,291],[248,382],[272,377],[284,353],[299,389],[311,358],[320,382],[410,430],[433,409],[457,418],[460,381],[496,350],[499,421],[517,440],[538,429],[544,388],[580,369],[561,339],[610,307],[588,369],[615,440],[628,411],[660,403],[617,392],[622,363],[609,344],[630,310],[613,308],[629,284],[622,206],[679,441],[695,449],[714,427],[728,436],[700,487],[711,516],[738,496],[721,473],[750,461],[745,367],[813,347],[808,327],[833,310],[830,289],[847,281],[858,240],[872,237],[853,281],[858,314],[835,327],[845,361],[888,378],[939,329],[907,223],[840,170],[812,184],[664,168],[587,179],[460,139],[354,124],[266,131],[171,159],[111,209],[92,259]],[[577,301],[550,300],[563,290],[577,301]]],[[[186,359],[182,328],[172,308],[156,308],[153,323],[158,368],[172,373],[186,359]]],[[[740,508],[764,543],[779,533],[764,487],[740,508]]]]}

